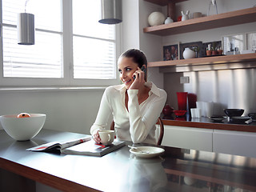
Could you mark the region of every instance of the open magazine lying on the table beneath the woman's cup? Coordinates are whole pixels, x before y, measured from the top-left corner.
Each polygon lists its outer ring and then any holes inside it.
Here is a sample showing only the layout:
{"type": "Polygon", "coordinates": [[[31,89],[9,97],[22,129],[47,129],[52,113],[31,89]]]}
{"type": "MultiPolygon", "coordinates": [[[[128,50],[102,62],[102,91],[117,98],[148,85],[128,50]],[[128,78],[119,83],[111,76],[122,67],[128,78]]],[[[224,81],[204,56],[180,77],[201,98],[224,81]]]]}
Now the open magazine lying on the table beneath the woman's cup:
{"type": "Polygon", "coordinates": [[[110,145],[99,145],[91,140],[90,136],[86,138],[79,138],[69,142],[48,142],[40,146],[34,146],[26,150],[42,151],[42,152],[54,152],[58,151],[62,154],[82,154],[90,156],[102,157],[105,154],[109,154],[114,150],[118,150],[122,146],[125,146],[125,142],[114,139],[114,142],[110,145]]]}

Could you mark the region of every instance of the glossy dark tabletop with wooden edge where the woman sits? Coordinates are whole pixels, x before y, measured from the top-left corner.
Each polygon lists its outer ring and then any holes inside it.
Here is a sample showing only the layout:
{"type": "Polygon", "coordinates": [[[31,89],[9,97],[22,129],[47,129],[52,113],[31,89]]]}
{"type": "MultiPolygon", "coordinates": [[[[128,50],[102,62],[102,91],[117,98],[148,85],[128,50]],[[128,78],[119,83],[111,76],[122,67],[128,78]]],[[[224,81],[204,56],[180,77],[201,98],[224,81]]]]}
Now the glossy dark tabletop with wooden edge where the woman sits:
{"type": "Polygon", "coordinates": [[[256,191],[256,158],[168,146],[161,157],[135,158],[130,142],[102,158],[26,151],[83,136],[43,129],[16,142],[0,130],[0,167],[63,191],[256,191]]]}

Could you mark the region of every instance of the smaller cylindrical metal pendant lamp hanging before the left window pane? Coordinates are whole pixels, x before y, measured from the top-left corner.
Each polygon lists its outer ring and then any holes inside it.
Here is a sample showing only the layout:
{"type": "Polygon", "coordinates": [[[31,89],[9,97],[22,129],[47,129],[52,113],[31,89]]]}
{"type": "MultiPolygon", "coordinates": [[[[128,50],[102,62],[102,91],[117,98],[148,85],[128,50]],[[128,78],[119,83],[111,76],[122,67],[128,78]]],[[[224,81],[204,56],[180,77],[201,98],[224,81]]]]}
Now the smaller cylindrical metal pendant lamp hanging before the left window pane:
{"type": "Polygon", "coordinates": [[[34,45],[34,14],[18,14],[18,44],[34,45]]]}

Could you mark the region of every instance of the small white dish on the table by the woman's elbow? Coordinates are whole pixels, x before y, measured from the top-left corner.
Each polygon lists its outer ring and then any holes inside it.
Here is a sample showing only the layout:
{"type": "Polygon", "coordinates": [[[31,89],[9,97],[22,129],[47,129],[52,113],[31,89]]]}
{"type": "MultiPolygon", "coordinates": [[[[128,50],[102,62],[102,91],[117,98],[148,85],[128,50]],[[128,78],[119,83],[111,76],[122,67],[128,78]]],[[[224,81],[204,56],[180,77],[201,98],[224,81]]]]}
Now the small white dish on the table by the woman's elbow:
{"type": "Polygon", "coordinates": [[[154,158],[165,152],[164,149],[155,146],[136,146],[130,149],[130,153],[139,158],[154,158]]]}

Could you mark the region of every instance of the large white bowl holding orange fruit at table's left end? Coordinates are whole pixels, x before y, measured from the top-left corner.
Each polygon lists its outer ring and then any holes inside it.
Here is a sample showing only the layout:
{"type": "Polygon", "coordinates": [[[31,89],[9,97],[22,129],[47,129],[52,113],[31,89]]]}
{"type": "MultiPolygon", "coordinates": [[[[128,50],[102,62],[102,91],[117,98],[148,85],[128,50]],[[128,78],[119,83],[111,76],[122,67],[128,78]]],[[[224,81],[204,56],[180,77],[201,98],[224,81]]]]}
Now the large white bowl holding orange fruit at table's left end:
{"type": "Polygon", "coordinates": [[[17,118],[18,114],[0,116],[3,129],[18,141],[34,138],[46,122],[46,114],[30,114],[30,118],[17,118]]]}

